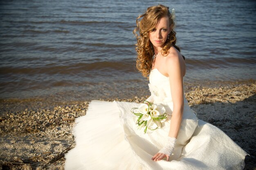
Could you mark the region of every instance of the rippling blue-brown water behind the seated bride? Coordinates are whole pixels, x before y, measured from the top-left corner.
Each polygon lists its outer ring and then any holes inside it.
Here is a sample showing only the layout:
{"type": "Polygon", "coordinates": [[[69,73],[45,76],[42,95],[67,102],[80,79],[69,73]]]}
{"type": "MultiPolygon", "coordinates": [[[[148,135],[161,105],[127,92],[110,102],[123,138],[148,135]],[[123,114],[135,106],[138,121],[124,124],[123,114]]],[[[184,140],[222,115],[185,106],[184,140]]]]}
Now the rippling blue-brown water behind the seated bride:
{"type": "Polygon", "coordinates": [[[0,99],[148,95],[132,31],[158,3],[176,10],[185,86],[256,79],[252,0],[2,0],[0,99]]]}

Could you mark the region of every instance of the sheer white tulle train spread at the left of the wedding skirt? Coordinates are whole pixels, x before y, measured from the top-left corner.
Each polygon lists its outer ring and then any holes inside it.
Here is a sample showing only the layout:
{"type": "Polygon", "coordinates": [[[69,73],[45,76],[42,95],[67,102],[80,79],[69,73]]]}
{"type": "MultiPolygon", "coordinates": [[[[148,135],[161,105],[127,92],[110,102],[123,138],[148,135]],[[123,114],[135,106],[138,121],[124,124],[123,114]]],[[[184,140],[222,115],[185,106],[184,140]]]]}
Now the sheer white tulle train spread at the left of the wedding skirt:
{"type": "Polygon", "coordinates": [[[145,170],[124,140],[115,102],[92,101],[73,135],[76,146],[65,154],[65,170],[145,170]]]}

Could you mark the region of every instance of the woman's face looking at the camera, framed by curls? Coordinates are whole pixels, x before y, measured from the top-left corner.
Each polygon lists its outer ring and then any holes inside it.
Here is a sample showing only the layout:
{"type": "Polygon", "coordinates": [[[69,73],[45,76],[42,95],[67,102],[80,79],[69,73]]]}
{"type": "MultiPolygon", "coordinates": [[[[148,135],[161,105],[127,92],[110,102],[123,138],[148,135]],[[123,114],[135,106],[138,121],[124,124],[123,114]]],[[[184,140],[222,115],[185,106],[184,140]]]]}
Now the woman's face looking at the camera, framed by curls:
{"type": "Polygon", "coordinates": [[[157,47],[157,49],[160,48],[159,50],[161,50],[164,47],[169,32],[169,18],[166,16],[161,18],[155,28],[149,32],[149,40],[153,46],[157,47]]]}

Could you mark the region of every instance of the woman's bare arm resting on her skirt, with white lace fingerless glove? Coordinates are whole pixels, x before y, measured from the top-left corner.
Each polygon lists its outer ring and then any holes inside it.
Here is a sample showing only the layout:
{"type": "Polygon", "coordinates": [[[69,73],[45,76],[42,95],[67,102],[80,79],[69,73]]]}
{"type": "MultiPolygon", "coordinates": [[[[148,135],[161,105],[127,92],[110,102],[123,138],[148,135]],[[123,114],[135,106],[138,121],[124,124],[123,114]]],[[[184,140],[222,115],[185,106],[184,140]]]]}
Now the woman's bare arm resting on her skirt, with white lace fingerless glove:
{"type": "Polygon", "coordinates": [[[152,157],[152,160],[159,161],[164,157],[167,157],[167,161],[171,155],[166,152],[172,152],[174,145],[180,130],[180,124],[182,121],[183,107],[184,107],[184,91],[183,91],[183,76],[185,71],[185,64],[182,55],[177,51],[169,54],[166,58],[166,72],[170,77],[171,95],[173,99],[173,113],[171,117],[171,125],[168,134],[168,143],[166,148],[160,150],[152,157]],[[168,146],[169,145],[169,146],[168,146]],[[171,150],[171,151],[170,151],[171,150]],[[161,153],[165,152],[165,153],[161,153]]]}

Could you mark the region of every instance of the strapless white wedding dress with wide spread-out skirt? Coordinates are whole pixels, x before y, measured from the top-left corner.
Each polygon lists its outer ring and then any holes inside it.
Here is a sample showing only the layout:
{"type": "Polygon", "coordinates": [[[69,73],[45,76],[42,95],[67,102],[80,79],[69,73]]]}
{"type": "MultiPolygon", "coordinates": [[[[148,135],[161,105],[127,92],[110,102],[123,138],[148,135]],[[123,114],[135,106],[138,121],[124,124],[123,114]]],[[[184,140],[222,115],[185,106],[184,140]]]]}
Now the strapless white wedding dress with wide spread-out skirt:
{"type": "Polygon", "coordinates": [[[150,99],[166,108],[157,130],[138,130],[131,108],[137,103],[92,101],[73,129],[76,146],[65,155],[65,170],[242,170],[247,153],[224,132],[198,120],[184,98],[184,113],[169,161],[152,161],[168,136],[173,102],[169,77],[150,73],[150,99]]]}

